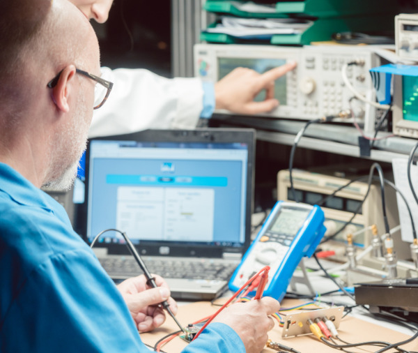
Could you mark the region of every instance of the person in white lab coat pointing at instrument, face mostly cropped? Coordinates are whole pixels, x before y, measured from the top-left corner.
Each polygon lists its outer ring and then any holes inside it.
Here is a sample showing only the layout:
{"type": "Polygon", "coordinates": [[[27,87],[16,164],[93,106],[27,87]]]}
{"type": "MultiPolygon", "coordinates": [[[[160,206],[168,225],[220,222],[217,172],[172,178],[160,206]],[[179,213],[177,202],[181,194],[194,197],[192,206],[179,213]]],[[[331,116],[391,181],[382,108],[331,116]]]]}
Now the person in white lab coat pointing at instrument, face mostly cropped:
{"type": "MultiPolygon", "coordinates": [[[[107,21],[113,0],[70,0],[88,19],[107,21]]],[[[194,128],[199,117],[210,118],[216,109],[237,114],[269,112],[279,105],[274,80],[295,68],[296,63],[259,74],[236,68],[211,84],[199,78],[168,79],[145,69],[102,68],[102,78],[114,82],[106,104],[95,110],[89,137],[133,133],[147,128],[194,128]],[[261,90],[263,102],[254,102],[261,90]]]]}

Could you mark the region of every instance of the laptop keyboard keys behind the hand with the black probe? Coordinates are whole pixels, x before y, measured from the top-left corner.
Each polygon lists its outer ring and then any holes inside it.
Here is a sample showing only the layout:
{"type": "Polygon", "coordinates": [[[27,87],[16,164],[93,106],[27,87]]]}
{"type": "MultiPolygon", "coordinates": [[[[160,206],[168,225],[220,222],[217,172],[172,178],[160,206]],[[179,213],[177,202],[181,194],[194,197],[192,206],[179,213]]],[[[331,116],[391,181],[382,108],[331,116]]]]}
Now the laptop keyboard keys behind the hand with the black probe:
{"type": "MultiPolygon", "coordinates": [[[[142,273],[132,257],[106,257],[99,259],[110,276],[133,277],[142,273]]],[[[163,278],[186,278],[205,280],[229,280],[237,264],[221,264],[214,260],[158,260],[142,259],[150,273],[163,278]]]]}

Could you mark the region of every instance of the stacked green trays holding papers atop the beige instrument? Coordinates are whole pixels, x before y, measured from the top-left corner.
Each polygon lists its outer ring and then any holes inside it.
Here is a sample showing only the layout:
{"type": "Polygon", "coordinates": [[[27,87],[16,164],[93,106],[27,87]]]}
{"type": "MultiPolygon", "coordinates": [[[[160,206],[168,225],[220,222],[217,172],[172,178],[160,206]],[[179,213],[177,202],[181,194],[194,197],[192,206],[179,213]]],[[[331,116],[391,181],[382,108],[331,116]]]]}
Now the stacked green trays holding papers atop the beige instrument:
{"type": "Polygon", "coordinates": [[[335,33],[341,32],[387,33],[393,31],[394,15],[401,11],[398,2],[391,0],[279,1],[275,6],[249,1],[207,0],[204,9],[220,18],[201,32],[201,40],[226,44],[263,40],[273,45],[306,45],[331,40],[335,33]],[[253,22],[248,26],[235,24],[238,17],[253,22]],[[224,23],[225,20],[231,23],[224,23]],[[307,21],[309,25],[292,27],[291,23],[284,23],[285,31],[277,31],[274,21],[280,20],[294,20],[295,26],[297,21],[307,21]]]}

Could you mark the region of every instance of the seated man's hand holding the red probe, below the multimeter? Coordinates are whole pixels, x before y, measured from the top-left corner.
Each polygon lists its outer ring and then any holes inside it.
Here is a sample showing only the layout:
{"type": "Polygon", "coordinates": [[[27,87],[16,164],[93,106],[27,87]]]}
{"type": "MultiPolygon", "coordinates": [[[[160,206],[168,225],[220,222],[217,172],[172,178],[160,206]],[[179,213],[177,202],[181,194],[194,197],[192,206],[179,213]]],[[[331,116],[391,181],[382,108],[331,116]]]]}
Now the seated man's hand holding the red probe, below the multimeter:
{"type": "Polygon", "coordinates": [[[261,352],[268,340],[267,332],[274,327],[274,321],[268,315],[279,309],[276,299],[265,296],[247,303],[235,303],[219,313],[213,322],[231,326],[244,343],[245,352],[261,352]]]}

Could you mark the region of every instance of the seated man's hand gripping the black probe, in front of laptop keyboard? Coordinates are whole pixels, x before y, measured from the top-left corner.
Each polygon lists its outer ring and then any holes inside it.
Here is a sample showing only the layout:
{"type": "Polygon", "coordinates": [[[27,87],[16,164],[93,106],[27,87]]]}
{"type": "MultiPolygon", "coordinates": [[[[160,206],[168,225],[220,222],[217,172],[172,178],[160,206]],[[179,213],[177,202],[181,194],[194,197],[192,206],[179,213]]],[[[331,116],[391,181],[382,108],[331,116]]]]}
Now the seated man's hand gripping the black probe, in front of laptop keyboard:
{"type": "Polygon", "coordinates": [[[164,311],[157,306],[162,301],[168,300],[173,314],[177,313],[177,303],[170,297],[169,286],[160,276],[153,276],[157,288],[146,285],[144,275],[129,278],[118,285],[139,332],[151,331],[164,323],[164,311]]]}

